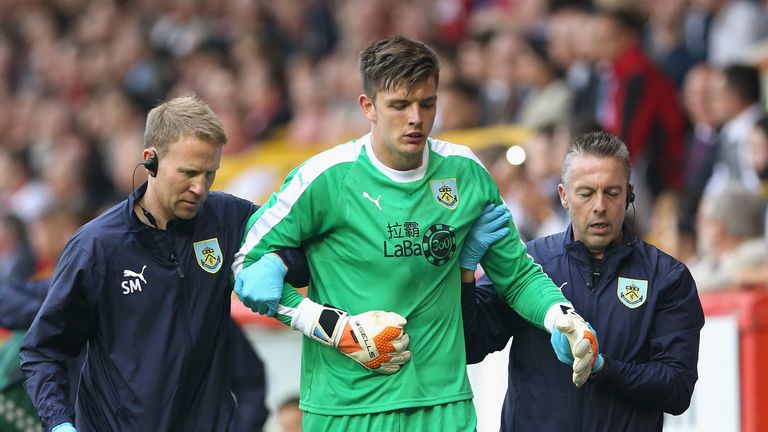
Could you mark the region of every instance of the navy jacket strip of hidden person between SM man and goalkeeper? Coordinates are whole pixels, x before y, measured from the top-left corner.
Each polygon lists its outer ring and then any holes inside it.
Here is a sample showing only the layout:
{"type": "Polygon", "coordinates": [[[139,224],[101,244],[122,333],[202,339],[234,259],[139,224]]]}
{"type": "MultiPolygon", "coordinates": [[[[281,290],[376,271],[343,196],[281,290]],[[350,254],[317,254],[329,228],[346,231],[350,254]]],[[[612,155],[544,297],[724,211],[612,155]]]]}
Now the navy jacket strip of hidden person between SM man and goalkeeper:
{"type": "Polygon", "coordinates": [[[229,320],[232,347],[232,392],[237,400],[232,432],[260,431],[269,412],[264,403],[267,386],[262,363],[243,330],[229,320]]]}

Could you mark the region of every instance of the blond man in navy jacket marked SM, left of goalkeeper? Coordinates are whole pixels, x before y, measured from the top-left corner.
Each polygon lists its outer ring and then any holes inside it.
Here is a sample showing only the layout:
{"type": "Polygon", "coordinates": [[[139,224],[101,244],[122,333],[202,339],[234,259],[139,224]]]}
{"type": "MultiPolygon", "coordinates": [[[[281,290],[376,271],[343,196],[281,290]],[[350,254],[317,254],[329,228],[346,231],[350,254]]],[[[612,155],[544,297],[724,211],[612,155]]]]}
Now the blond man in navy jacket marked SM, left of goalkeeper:
{"type": "Polygon", "coordinates": [[[196,97],[153,109],[144,141],[147,184],[75,233],[21,348],[45,430],[75,431],[75,418],[81,432],[232,421],[229,269],[255,208],[209,194],[227,139],[196,97]],[[83,347],[73,409],[63,362],[83,347]]]}

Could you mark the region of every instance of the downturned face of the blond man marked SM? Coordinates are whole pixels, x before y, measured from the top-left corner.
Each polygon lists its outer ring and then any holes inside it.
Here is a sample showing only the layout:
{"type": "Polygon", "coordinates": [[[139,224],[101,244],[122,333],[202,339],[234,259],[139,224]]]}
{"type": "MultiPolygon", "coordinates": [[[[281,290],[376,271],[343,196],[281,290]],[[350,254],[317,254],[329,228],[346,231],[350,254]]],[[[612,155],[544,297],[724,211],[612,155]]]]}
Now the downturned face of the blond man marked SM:
{"type": "Polygon", "coordinates": [[[211,190],[221,162],[221,147],[196,137],[185,137],[171,144],[158,159],[157,176],[150,183],[149,198],[154,201],[153,207],[160,208],[160,215],[155,216],[167,221],[191,219],[211,190]]]}

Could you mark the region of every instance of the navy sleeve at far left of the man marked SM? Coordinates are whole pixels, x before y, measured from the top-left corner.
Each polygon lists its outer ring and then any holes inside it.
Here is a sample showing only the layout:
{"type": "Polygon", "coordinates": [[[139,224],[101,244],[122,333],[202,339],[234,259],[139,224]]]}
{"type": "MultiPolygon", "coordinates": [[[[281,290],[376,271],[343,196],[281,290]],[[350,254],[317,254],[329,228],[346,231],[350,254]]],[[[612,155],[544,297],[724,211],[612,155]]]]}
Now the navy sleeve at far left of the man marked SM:
{"type": "Polygon", "coordinates": [[[85,270],[93,260],[75,249],[70,242],[62,254],[48,295],[20,350],[24,387],[46,430],[73,421],[65,361],[80,353],[97,320],[84,288],[99,286],[85,270]]]}

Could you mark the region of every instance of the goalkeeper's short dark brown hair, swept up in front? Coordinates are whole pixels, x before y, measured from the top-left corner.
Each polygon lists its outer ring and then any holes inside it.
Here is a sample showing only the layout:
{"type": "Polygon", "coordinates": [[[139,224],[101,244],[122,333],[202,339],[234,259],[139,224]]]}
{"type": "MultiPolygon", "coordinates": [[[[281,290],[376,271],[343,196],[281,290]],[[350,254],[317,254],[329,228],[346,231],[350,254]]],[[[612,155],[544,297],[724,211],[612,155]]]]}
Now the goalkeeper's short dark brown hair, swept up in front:
{"type": "Polygon", "coordinates": [[[363,91],[375,98],[379,91],[391,91],[406,84],[440,78],[440,62],[431,48],[421,42],[393,36],[368,45],[360,53],[360,76],[363,91]]]}

